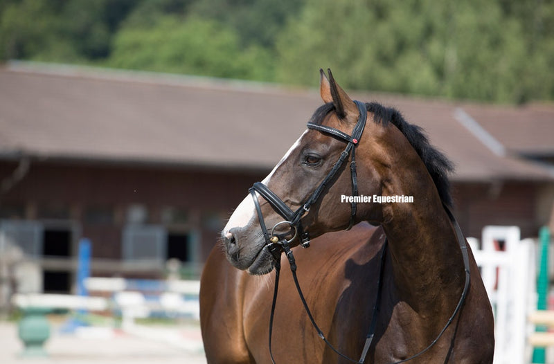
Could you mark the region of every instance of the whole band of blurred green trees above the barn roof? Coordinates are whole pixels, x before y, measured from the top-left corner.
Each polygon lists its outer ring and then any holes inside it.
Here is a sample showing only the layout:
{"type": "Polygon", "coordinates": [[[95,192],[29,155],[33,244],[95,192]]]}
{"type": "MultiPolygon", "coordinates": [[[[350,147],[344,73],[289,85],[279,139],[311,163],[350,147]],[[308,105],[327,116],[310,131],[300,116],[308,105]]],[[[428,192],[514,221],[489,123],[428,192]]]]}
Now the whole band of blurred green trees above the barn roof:
{"type": "Polygon", "coordinates": [[[554,99],[554,0],[0,0],[0,60],[554,99]]]}

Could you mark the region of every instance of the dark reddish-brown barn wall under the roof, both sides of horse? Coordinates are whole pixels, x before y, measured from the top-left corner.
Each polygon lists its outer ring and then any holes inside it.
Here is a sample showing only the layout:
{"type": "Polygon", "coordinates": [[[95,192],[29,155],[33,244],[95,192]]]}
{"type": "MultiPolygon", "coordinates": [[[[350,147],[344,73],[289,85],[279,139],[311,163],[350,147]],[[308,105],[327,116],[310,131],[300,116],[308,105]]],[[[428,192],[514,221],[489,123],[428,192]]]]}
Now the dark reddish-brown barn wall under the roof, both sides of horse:
{"type": "MultiPolygon", "coordinates": [[[[16,167],[17,163],[0,163],[0,181],[16,167]]],[[[252,183],[266,174],[36,161],[21,181],[1,194],[0,219],[39,222],[44,242],[51,241],[43,248],[52,254],[75,257],[78,239],[88,237],[95,260],[125,258],[123,236],[129,226],[159,227],[168,236],[186,235],[193,241],[196,250],[188,258],[202,264],[217,244],[227,217],[252,183]],[[69,251],[64,251],[56,239],[63,239],[68,231],[71,242],[69,251]]],[[[552,196],[552,188],[534,183],[454,183],[453,190],[463,232],[478,238],[486,225],[517,225],[522,237],[534,237],[545,219],[544,211],[552,205],[544,201],[544,196],[552,196]]],[[[56,264],[43,262],[42,266],[53,276],[57,271],[73,274],[69,266],[56,264]]],[[[107,273],[109,269],[93,271],[107,273]]],[[[141,274],[132,269],[127,273],[141,274]]],[[[153,274],[161,273],[159,269],[145,273],[153,274]]]]}

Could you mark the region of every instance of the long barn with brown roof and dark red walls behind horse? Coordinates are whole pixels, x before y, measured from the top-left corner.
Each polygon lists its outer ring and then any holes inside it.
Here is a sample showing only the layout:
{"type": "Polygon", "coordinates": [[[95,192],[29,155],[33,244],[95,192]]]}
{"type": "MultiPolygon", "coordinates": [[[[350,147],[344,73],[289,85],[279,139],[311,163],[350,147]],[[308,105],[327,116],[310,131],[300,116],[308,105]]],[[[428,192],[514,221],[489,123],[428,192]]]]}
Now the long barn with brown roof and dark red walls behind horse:
{"type": "MultiPolygon", "coordinates": [[[[340,71],[337,70],[340,80],[340,71]]],[[[319,77],[314,70],[314,78],[319,77]]],[[[456,164],[456,216],[537,235],[554,200],[554,106],[358,93],[423,127],[456,164]]],[[[232,209],[321,104],[316,90],[177,75],[10,63],[0,69],[0,255],[19,246],[44,292],[92,274],[197,277],[232,209]]]]}

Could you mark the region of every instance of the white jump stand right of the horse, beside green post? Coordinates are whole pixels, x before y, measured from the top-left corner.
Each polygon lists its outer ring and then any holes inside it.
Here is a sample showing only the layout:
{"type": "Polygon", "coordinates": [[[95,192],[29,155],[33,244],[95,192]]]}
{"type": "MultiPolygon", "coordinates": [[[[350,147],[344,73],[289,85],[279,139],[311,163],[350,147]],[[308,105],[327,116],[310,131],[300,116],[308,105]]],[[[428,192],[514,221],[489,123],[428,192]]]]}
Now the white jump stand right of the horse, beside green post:
{"type": "Polygon", "coordinates": [[[530,363],[531,350],[544,338],[532,336],[536,310],[534,239],[520,239],[515,226],[487,226],[481,244],[468,238],[481,269],[483,284],[494,312],[494,364],[530,363]]]}

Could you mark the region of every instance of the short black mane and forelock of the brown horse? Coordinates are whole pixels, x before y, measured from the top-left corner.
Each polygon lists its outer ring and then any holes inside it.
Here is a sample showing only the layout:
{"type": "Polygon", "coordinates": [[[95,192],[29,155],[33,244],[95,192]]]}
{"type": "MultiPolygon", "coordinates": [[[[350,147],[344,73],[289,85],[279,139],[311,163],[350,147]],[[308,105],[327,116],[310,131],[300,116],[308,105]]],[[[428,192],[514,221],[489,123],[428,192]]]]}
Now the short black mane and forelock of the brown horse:
{"type": "MultiPolygon", "coordinates": [[[[420,156],[425,167],[427,167],[429,174],[431,174],[431,178],[438,190],[440,200],[443,201],[445,205],[452,207],[448,174],[454,171],[454,165],[452,165],[452,162],[449,161],[443,153],[429,144],[425,131],[423,131],[421,127],[418,127],[418,125],[412,125],[406,122],[400,111],[392,107],[384,107],[377,102],[368,102],[366,103],[366,109],[368,112],[373,113],[374,122],[382,122],[384,124],[392,122],[393,125],[404,134],[413,149],[415,149],[415,152],[420,156]]],[[[332,110],[334,110],[332,102],[321,105],[321,107],[314,112],[310,122],[321,124],[325,116],[332,110]]]]}

